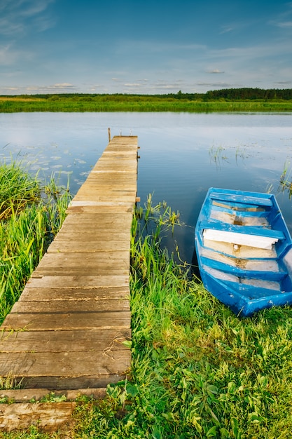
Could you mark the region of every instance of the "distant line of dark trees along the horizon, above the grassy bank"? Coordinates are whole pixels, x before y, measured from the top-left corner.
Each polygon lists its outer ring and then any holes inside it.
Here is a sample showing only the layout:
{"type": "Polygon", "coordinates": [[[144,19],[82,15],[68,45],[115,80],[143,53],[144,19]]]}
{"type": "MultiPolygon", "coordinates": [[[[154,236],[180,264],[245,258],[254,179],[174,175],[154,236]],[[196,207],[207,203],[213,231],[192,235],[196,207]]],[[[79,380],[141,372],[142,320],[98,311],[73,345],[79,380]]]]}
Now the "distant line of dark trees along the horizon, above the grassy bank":
{"type": "MultiPolygon", "coordinates": [[[[11,97],[11,95],[6,95],[11,97]]],[[[148,101],[148,100],[292,100],[292,88],[223,88],[221,90],[209,90],[207,93],[167,93],[162,95],[143,95],[130,93],[57,93],[57,94],[37,94],[37,95],[21,95],[18,97],[29,98],[36,97],[45,100],[99,100],[99,101],[148,101]]]]}

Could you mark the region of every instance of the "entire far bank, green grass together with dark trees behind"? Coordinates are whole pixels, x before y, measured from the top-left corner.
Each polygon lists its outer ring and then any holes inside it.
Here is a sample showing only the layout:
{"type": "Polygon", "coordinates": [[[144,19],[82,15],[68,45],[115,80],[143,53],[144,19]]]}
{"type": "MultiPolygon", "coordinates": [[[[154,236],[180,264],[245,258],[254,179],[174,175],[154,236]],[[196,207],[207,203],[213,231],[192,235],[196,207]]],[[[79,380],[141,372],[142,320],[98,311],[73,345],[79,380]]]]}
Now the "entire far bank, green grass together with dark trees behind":
{"type": "Polygon", "coordinates": [[[292,89],[230,88],[207,93],[2,95],[0,112],[292,112],[292,89]]]}

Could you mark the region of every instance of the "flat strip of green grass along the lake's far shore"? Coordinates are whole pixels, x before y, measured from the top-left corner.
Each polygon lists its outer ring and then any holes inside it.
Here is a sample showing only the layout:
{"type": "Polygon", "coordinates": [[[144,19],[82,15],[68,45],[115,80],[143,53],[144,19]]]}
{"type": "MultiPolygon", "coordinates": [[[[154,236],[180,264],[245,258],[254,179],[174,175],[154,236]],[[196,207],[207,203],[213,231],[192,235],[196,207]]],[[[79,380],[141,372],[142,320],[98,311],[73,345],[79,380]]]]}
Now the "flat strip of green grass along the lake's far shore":
{"type": "Polygon", "coordinates": [[[136,95],[0,97],[0,112],[292,112],[291,100],[204,101],[136,95]]]}

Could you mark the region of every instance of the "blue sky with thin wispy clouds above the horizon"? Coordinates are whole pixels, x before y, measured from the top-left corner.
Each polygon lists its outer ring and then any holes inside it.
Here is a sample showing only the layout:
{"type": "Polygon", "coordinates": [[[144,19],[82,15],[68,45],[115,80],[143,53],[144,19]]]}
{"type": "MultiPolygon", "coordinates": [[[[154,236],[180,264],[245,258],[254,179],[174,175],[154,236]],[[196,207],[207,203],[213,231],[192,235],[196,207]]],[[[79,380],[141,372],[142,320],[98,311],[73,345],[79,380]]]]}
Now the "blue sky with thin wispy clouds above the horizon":
{"type": "Polygon", "coordinates": [[[1,0],[0,95],[292,88],[292,1],[1,0]]]}

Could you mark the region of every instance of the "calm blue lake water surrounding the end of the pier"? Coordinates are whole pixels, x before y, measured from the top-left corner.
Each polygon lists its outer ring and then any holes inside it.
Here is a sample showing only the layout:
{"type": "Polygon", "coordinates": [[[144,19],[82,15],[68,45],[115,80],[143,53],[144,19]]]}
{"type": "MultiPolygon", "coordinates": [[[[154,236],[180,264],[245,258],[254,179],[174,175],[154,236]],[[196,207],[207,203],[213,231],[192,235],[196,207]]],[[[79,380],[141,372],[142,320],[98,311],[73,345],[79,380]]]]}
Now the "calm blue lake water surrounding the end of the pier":
{"type": "MultiPolygon", "coordinates": [[[[276,194],[292,233],[292,114],[15,113],[0,114],[0,161],[17,158],[40,177],[55,173],[73,194],[111,135],[139,139],[138,196],[167,201],[185,226],[176,230],[191,262],[197,215],[209,187],[276,194]]],[[[167,243],[172,250],[174,245],[167,243]]]]}

